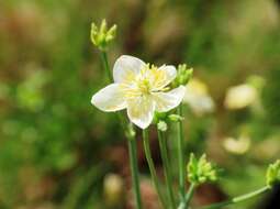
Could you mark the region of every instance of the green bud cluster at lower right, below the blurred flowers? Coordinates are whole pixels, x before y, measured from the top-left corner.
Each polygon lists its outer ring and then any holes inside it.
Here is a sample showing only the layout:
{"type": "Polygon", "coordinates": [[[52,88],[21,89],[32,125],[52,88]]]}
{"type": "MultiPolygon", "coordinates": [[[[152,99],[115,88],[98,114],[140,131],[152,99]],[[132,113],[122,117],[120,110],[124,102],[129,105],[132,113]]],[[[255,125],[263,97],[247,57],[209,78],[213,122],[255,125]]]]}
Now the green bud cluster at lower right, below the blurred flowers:
{"type": "Polygon", "coordinates": [[[217,180],[217,172],[213,164],[206,161],[205,154],[198,160],[194,154],[191,153],[187,170],[189,182],[195,185],[217,180]]]}

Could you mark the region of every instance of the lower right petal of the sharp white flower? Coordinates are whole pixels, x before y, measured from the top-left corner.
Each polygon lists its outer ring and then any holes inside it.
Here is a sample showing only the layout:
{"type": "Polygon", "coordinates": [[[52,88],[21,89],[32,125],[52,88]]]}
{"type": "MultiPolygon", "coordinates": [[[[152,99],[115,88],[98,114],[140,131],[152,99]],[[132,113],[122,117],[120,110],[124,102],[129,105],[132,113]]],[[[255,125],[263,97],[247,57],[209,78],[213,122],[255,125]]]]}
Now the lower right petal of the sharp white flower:
{"type": "Polygon", "coordinates": [[[179,106],[183,99],[186,88],[179,86],[168,92],[154,92],[153,98],[156,102],[156,111],[167,112],[179,106]]]}

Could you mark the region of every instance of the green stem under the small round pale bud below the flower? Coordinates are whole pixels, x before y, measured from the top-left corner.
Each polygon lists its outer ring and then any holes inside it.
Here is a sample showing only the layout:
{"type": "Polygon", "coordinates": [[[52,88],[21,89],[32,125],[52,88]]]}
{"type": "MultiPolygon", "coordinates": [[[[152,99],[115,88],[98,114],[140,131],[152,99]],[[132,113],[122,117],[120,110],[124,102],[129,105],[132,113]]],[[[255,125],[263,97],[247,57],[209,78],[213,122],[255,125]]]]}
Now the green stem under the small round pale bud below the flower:
{"type": "Polygon", "coordinates": [[[172,184],[171,184],[171,174],[170,174],[170,164],[168,161],[168,151],[167,151],[167,142],[165,138],[165,133],[160,130],[157,130],[158,133],[158,141],[159,141],[159,148],[160,148],[160,155],[163,160],[163,166],[165,170],[165,178],[167,183],[167,194],[168,194],[168,199],[171,205],[171,208],[175,209],[175,197],[173,197],[173,190],[172,190],[172,184]]]}

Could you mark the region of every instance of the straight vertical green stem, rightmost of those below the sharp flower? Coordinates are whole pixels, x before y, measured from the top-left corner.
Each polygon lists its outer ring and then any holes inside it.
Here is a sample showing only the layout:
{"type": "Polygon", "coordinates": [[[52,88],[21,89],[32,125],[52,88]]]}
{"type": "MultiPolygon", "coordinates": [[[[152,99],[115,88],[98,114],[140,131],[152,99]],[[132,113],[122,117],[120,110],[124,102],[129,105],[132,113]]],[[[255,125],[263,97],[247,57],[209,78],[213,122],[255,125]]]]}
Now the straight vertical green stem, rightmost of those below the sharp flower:
{"type": "MultiPolygon", "coordinates": [[[[182,105],[177,108],[177,113],[182,116],[182,105]]],[[[186,169],[184,169],[184,155],[183,155],[183,130],[182,130],[182,121],[179,121],[177,124],[178,129],[178,166],[179,166],[179,190],[180,190],[180,199],[184,198],[184,180],[186,180],[186,169]]]]}

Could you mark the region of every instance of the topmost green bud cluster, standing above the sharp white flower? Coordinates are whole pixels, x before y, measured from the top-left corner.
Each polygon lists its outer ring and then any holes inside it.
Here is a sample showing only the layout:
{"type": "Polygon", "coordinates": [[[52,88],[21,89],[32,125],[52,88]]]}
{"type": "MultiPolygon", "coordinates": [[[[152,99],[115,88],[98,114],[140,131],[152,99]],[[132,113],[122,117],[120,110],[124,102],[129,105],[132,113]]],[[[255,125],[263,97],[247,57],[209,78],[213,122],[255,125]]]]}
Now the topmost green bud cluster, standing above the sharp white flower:
{"type": "Polygon", "coordinates": [[[100,28],[94,23],[91,24],[90,38],[94,46],[101,51],[105,51],[110,42],[116,34],[116,25],[114,24],[108,30],[107,21],[102,20],[100,28]]]}

